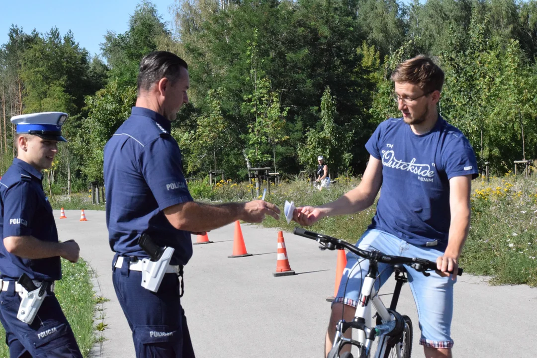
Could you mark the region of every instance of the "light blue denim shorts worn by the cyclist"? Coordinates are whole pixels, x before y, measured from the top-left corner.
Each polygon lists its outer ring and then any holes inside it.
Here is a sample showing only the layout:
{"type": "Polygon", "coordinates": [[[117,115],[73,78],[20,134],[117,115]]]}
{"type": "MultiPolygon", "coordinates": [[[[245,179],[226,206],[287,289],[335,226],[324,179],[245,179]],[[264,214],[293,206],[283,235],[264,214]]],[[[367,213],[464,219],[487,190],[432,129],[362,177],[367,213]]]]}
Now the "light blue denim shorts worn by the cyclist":
{"type": "MultiPolygon", "coordinates": [[[[357,246],[362,250],[378,250],[387,255],[418,257],[436,262],[444,253],[431,247],[415,246],[387,232],[371,229],[360,238],[357,246]]],[[[358,305],[361,280],[369,269],[369,261],[347,253],[347,266],[339,285],[338,294],[333,303],[344,303],[353,307],[358,305]],[[360,264],[358,264],[358,262],[360,264]]],[[[442,277],[434,271],[429,271],[429,277],[415,269],[405,266],[408,271],[408,281],[416,308],[418,309],[419,327],[422,331],[420,345],[436,348],[453,346],[451,320],[453,317],[453,281],[451,277],[442,277]]],[[[381,277],[380,286],[389,279],[393,267],[379,263],[381,277]],[[384,271],[386,269],[386,271],[384,271]]],[[[377,284],[376,288],[380,288],[377,284]]],[[[332,303],[332,304],[333,304],[332,303]]],[[[389,301],[384,302],[389,306],[389,301]]]]}

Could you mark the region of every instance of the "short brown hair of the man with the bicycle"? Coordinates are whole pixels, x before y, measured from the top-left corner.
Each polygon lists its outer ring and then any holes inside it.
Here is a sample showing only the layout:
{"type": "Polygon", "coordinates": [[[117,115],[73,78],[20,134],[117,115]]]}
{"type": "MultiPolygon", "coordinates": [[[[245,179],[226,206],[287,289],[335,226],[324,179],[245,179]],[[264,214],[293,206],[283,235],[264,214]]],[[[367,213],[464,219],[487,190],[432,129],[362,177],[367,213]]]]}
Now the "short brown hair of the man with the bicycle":
{"type": "Polygon", "coordinates": [[[441,92],[444,71],[430,57],[419,55],[398,64],[391,74],[391,80],[415,84],[425,93],[441,92]]]}

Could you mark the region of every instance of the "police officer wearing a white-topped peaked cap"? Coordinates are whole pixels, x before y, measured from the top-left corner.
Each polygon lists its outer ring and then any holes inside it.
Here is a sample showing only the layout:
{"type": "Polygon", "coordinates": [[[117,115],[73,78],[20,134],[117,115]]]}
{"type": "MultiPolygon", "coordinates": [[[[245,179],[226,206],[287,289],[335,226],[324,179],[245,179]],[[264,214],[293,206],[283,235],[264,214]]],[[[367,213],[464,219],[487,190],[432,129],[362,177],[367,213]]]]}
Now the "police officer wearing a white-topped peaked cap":
{"type": "Polygon", "coordinates": [[[41,182],[41,171],[52,166],[57,154],[57,142],[66,142],[61,135],[66,118],[60,112],[11,118],[17,125],[17,158],[0,181],[0,320],[12,358],[82,357],[54,296],[54,281],[62,277],[60,257],[76,262],[80,249],[73,240],[58,242],[41,182]],[[24,274],[36,287],[43,287],[44,298],[30,323],[17,318],[27,294],[17,282],[24,274]]]}

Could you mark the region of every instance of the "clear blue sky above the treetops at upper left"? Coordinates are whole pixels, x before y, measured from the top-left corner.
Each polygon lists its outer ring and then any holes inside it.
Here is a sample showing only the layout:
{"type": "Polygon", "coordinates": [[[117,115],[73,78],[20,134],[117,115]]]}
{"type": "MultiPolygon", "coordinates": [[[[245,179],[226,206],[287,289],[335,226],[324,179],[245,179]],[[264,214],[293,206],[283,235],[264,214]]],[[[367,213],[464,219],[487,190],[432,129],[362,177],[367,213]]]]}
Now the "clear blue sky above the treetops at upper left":
{"type": "MultiPolygon", "coordinates": [[[[45,33],[53,26],[64,34],[71,30],[81,47],[91,55],[100,53],[100,43],[107,30],[122,33],[127,30],[129,15],[137,0],[5,0],[0,1],[0,45],[8,41],[11,24],[30,33],[35,28],[45,33]]],[[[172,17],[168,7],[174,0],[152,0],[169,27],[172,17]]]]}

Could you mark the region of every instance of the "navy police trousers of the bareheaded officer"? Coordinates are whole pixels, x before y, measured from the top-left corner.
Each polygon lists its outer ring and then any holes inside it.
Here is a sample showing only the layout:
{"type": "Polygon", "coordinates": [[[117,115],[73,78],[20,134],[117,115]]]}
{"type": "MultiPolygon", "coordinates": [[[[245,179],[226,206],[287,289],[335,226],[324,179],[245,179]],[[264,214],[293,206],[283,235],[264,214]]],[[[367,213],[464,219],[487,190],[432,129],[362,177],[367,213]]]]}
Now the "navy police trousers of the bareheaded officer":
{"type": "Polygon", "coordinates": [[[141,286],[142,273],[128,269],[129,258],[121,268],[112,262],[115,294],[133,332],[137,358],[195,358],[181,306],[177,274],[165,274],[157,293],[141,286]]]}

